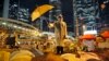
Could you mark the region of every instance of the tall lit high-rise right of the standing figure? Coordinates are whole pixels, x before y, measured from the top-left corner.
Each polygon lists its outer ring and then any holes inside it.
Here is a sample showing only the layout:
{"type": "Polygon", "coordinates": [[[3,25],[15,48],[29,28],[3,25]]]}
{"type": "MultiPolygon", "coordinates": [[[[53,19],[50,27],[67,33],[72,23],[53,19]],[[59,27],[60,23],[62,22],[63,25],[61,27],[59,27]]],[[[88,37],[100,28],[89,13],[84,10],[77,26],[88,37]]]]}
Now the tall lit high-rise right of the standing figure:
{"type": "Polygon", "coordinates": [[[73,0],[76,35],[85,30],[96,30],[96,17],[99,16],[98,2],[95,0],[73,0]],[[85,29],[83,29],[83,25],[85,29]]]}

